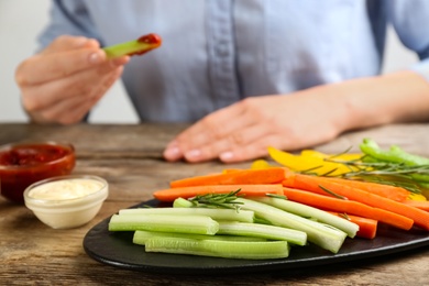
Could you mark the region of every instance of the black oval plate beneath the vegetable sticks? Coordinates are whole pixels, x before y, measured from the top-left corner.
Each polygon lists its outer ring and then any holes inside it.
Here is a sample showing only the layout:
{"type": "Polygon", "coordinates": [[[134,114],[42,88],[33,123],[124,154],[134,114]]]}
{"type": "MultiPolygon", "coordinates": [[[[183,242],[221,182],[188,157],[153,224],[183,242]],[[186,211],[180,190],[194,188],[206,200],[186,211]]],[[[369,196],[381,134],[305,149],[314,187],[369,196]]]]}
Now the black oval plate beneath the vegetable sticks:
{"type": "MultiPolygon", "coordinates": [[[[134,208],[143,205],[160,207],[157,200],[150,200],[134,208]]],[[[109,220],[110,217],[85,235],[86,253],[103,264],[144,272],[200,275],[290,270],[375,257],[429,245],[429,234],[426,231],[402,231],[380,226],[374,240],[346,239],[337,254],[315,245],[293,248],[287,258],[258,261],[146,253],[144,246],[132,243],[132,232],[109,232],[109,220]]]]}

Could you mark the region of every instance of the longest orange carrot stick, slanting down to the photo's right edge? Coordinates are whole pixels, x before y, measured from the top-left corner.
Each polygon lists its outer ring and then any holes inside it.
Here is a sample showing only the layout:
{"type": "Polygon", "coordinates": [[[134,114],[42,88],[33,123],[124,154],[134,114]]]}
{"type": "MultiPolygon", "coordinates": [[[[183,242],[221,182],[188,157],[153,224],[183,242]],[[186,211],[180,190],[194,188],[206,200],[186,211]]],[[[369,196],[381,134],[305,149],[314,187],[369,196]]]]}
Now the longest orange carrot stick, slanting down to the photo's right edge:
{"type": "Polygon", "coordinates": [[[361,188],[350,187],[344,184],[338,184],[337,182],[330,180],[330,178],[308,176],[301,174],[295,174],[289,176],[293,176],[294,178],[285,180],[285,183],[293,182],[293,186],[289,185],[288,187],[306,189],[326,196],[329,196],[329,194],[324,190],[328,189],[348,199],[360,201],[371,207],[385,209],[410,218],[411,220],[414,220],[416,226],[429,231],[429,212],[427,211],[381,197],[378,195],[371,194],[369,191],[362,190],[361,188]]]}

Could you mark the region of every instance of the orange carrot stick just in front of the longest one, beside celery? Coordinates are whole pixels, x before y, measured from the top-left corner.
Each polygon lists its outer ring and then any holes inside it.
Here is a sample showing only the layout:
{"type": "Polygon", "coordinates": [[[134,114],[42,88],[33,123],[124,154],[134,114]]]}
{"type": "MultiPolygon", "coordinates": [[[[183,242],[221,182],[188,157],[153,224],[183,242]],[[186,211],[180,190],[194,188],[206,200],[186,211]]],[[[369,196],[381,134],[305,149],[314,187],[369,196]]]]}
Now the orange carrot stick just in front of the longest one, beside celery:
{"type": "Polygon", "coordinates": [[[295,188],[283,188],[283,191],[288,199],[297,202],[301,202],[319,209],[350,213],[377,220],[403,230],[411,229],[414,223],[411,219],[405,216],[400,216],[380,208],[373,208],[354,200],[338,199],[295,188]]]}

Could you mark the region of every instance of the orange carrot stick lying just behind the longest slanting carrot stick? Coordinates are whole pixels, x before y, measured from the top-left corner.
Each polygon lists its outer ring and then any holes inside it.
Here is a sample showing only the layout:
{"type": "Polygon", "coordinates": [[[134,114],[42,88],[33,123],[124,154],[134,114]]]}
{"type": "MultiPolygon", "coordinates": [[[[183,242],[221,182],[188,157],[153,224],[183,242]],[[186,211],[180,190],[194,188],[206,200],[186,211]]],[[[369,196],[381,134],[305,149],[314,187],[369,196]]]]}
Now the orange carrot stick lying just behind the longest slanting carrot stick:
{"type": "Polygon", "coordinates": [[[343,179],[343,178],[329,178],[332,182],[337,182],[339,184],[344,184],[346,186],[353,187],[353,188],[360,188],[362,190],[366,190],[369,193],[393,199],[396,201],[405,201],[408,196],[410,195],[410,191],[395,186],[389,185],[382,185],[377,183],[370,183],[370,182],[362,182],[362,180],[353,180],[353,179],[343,179]]]}

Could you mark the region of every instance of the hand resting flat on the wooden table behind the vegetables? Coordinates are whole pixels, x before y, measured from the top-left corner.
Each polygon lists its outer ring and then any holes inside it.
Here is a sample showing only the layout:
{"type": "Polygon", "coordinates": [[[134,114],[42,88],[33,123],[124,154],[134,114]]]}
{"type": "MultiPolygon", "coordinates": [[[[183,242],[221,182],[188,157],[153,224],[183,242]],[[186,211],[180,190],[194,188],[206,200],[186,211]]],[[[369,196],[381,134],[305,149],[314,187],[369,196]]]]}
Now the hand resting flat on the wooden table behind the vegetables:
{"type": "Polygon", "coordinates": [[[267,154],[267,146],[298,150],[334,139],[343,131],[338,108],[318,88],[288,96],[244,99],[216,111],[179,134],[166,148],[168,161],[201,162],[253,160],[267,154]],[[323,98],[323,100],[321,100],[323,98]]]}

